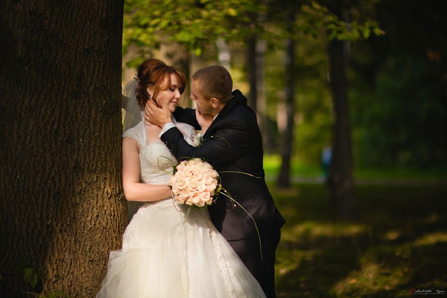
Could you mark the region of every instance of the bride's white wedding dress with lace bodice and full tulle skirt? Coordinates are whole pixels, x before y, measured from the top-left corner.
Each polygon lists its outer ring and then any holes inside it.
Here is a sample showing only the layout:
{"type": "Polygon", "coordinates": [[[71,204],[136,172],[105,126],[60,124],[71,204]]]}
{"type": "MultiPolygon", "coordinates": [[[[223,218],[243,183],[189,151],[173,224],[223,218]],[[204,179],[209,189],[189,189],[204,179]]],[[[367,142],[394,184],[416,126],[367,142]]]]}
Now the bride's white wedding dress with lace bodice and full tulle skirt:
{"type": "MultiPolygon", "coordinates": [[[[192,144],[194,128],[177,123],[192,144]]],[[[141,179],[167,184],[175,157],[160,140],[146,145],[144,122],[123,137],[140,145],[141,179]]],[[[97,298],[262,298],[264,292],[206,208],[178,205],[172,198],[144,204],[110,252],[107,276],[97,298]]]]}

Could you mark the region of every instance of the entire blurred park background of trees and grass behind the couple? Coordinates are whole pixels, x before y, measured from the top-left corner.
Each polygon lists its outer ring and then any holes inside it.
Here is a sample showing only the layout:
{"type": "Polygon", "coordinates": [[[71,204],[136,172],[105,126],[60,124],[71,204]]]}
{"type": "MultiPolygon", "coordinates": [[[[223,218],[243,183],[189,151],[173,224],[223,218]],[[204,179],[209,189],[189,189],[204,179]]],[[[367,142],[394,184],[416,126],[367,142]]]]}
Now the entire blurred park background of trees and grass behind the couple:
{"type": "MultiPolygon", "coordinates": [[[[279,297],[447,289],[446,11],[442,0],[125,1],[123,84],[149,58],[189,78],[221,64],[257,112],[288,222],[279,297]]],[[[188,89],[181,104],[193,106],[188,89]]]]}

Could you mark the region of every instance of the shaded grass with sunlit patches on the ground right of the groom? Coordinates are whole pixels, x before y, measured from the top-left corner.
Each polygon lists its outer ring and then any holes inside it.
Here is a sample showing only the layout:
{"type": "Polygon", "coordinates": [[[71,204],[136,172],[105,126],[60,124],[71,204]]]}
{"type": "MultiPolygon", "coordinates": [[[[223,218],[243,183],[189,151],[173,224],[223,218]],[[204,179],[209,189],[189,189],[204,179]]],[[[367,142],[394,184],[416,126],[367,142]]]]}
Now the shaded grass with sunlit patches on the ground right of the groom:
{"type": "Polygon", "coordinates": [[[447,188],[356,188],[356,220],[333,221],[322,185],[270,186],[287,223],[277,250],[278,297],[408,297],[447,291],[447,188]]]}

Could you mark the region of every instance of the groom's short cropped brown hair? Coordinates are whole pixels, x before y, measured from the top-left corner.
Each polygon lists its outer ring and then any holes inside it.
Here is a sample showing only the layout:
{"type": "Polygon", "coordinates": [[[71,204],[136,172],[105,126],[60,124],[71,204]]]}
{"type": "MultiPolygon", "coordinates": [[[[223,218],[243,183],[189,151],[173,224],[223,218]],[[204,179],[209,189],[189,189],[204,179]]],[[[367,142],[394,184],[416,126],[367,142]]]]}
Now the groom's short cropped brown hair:
{"type": "Polygon", "coordinates": [[[201,83],[202,95],[206,100],[215,97],[225,103],[231,99],[233,80],[223,66],[204,67],[193,74],[193,80],[201,83]]]}

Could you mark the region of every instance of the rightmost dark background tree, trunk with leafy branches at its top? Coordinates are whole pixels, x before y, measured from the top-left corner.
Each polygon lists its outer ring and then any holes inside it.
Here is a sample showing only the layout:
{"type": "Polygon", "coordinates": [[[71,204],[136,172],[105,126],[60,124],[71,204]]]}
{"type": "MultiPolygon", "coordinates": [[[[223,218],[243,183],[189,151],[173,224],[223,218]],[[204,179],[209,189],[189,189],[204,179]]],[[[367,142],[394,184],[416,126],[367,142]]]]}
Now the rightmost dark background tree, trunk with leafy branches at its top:
{"type": "Polygon", "coordinates": [[[360,13],[361,2],[327,1],[327,9],[341,23],[345,24],[345,32],[338,32],[331,26],[327,28],[329,36],[329,84],[332,92],[334,109],[334,128],[332,136],[332,163],[330,165],[327,183],[330,189],[331,203],[335,216],[339,219],[348,219],[355,216],[354,175],[353,175],[353,146],[351,136],[351,118],[348,102],[348,76],[349,42],[384,32],[374,21],[366,20],[365,28],[359,30],[357,20],[351,19],[352,5],[357,5],[358,17],[365,16],[360,13]]]}

